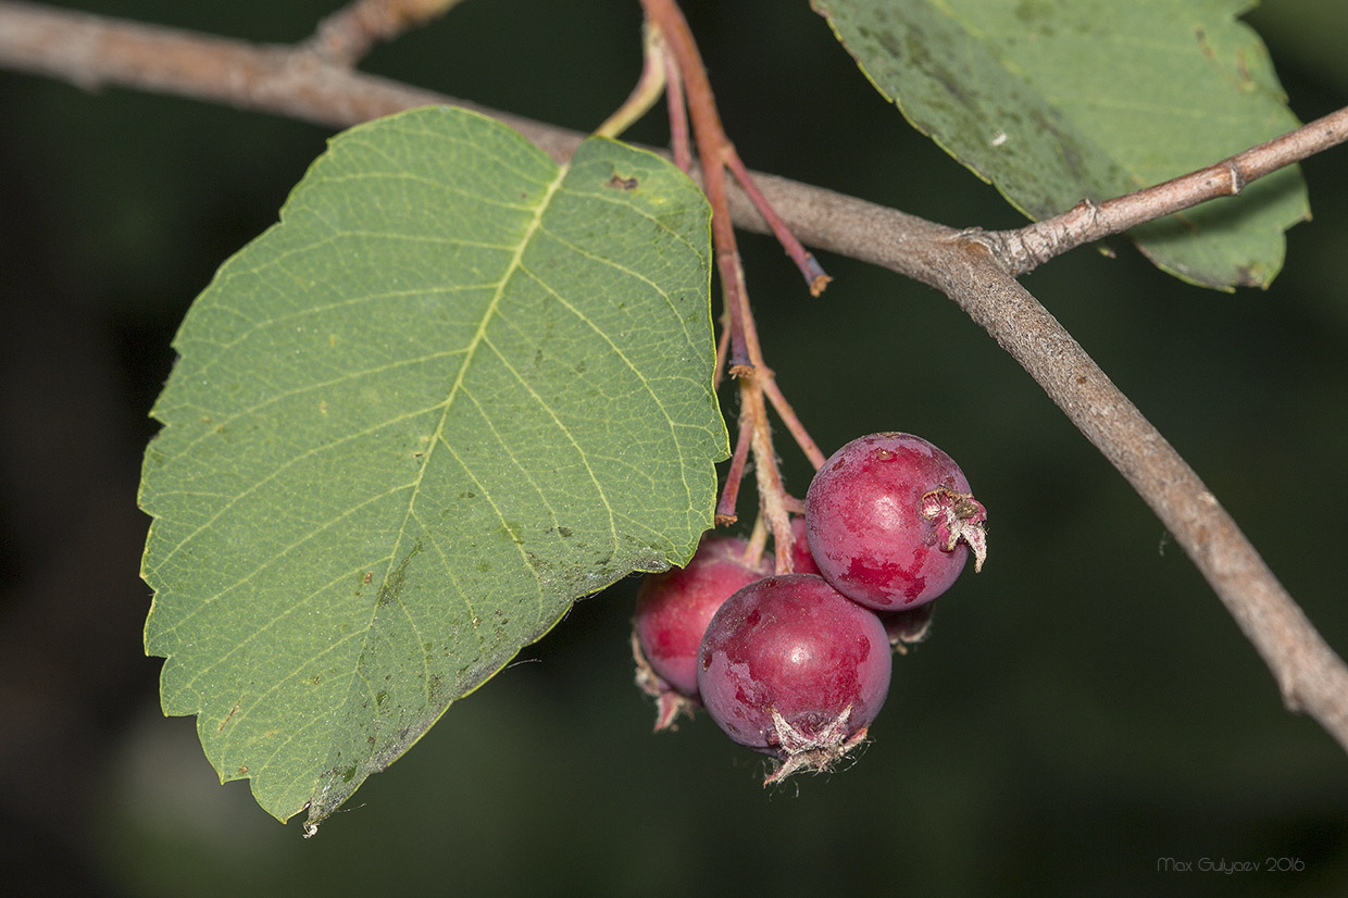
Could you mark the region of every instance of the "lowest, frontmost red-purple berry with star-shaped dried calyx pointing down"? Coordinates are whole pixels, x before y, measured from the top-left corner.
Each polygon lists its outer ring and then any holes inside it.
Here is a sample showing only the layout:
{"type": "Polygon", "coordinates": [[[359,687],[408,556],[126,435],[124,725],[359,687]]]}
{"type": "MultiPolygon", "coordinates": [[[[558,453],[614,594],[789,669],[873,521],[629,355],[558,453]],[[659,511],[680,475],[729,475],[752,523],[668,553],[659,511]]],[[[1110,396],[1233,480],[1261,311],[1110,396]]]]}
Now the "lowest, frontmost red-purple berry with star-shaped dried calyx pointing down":
{"type": "Polygon", "coordinates": [[[875,612],[817,574],[778,574],[731,596],[702,636],[697,685],[712,720],[782,766],[826,770],[865,739],[890,690],[875,612]]]}

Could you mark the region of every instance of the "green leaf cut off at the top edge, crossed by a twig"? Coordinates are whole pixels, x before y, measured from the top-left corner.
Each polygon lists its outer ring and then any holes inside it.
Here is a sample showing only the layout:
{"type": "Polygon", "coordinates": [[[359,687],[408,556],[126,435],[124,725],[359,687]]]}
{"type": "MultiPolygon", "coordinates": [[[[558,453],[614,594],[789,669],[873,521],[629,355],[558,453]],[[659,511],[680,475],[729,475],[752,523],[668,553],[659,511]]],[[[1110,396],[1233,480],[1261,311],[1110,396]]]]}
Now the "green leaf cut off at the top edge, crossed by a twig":
{"type": "MultiPolygon", "coordinates": [[[[813,0],[886,98],[1031,218],[1297,127],[1248,0],[813,0]]],[[[1267,286],[1310,217],[1297,169],[1136,228],[1159,267],[1267,286]]]]}

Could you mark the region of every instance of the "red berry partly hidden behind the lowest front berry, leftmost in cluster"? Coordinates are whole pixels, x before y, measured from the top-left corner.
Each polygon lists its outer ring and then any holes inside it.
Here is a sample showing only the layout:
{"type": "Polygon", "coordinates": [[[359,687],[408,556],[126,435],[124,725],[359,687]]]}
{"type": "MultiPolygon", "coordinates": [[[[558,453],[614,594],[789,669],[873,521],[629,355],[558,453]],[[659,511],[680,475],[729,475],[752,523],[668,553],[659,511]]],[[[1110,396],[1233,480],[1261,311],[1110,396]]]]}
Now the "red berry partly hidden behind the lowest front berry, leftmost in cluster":
{"type": "Polygon", "coordinates": [[[737,537],[705,537],[686,568],[650,574],[636,591],[636,684],[656,700],[656,729],[697,698],[697,650],[712,615],[736,589],[772,573],[767,558],[745,564],[747,549],[737,537]]]}

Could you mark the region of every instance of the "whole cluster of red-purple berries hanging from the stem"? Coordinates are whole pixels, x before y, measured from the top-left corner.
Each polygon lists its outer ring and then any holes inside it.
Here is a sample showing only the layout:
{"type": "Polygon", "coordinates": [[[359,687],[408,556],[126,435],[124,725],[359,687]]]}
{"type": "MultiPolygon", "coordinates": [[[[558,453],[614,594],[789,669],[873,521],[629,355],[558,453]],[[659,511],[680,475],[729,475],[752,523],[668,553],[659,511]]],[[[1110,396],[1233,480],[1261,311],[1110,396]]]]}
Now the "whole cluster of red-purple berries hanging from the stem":
{"type": "Polygon", "coordinates": [[[931,600],[987,556],[985,511],[958,465],[921,437],[838,449],[791,522],[793,570],[709,535],[686,568],[638,592],[638,682],[656,729],[701,704],[735,742],[778,758],[776,782],[825,770],[864,740],[890,688],[891,646],[917,642],[931,600]]]}

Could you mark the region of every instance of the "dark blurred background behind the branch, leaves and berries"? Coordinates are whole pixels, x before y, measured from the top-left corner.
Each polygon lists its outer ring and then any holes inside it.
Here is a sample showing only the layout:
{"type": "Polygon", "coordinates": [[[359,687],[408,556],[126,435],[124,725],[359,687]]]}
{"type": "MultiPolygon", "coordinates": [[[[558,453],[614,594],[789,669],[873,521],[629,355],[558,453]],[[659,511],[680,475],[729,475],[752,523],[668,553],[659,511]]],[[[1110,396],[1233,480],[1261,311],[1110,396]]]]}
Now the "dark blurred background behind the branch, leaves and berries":
{"type": "MultiPolygon", "coordinates": [[[[256,40],[333,0],[63,3],[256,40]]],[[[805,0],[689,0],[754,167],[952,225],[1019,217],[869,88],[805,0]]],[[[1304,120],[1348,102],[1348,8],[1251,16],[1304,120]]],[[[577,129],[625,97],[635,0],[474,0],[365,69],[577,129]]],[[[659,143],[659,116],[630,136],[659,143]]],[[[845,771],[759,787],[700,719],[652,736],[631,684],[634,581],[580,603],[301,839],[220,786],[156,704],[135,507],[168,341],[214,268],[275,220],[329,133],[0,73],[0,880],[9,894],[1333,895],[1348,758],[1271,676],[1161,525],[976,325],[931,290],[824,256],[810,299],[745,236],[770,364],[825,452],[872,430],[958,458],[992,554],[896,659],[845,771]],[[1161,859],[1193,864],[1165,872],[1161,859]],[[1208,859],[1299,871],[1205,872],[1208,859]]],[[[1120,245],[1027,286],[1232,511],[1348,651],[1348,194],[1268,291],[1186,287],[1120,245]]],[[[789,485],[809,467],[779,444],[789,485]]]]}

